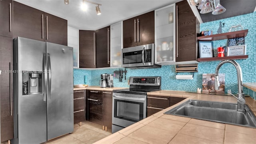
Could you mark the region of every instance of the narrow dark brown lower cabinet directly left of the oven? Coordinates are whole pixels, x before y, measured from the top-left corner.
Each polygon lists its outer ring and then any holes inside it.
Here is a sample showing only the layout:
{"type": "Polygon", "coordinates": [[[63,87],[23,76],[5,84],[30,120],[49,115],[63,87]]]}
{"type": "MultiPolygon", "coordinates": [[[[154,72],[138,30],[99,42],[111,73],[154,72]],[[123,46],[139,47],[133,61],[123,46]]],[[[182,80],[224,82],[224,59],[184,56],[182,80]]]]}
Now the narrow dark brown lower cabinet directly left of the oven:
{"type": "Polygon", "coordinates": [[[112,132],[112,92],[103,91],[103,127],[112,132]]]}

